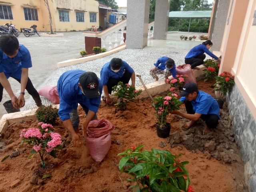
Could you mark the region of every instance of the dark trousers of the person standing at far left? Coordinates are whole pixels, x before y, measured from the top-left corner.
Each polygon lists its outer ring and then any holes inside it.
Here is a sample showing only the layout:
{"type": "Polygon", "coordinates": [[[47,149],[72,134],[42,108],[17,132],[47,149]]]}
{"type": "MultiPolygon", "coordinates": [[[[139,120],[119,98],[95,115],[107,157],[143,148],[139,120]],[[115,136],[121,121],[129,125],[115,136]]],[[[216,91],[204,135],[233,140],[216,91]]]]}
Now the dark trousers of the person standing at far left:
{"type": "MultiPolygon", "coordinates": [[[[12,78],[14,78],[14,77],[12,77],[12,78]]],[[[17,79],[17,78],[14,78],[14,79],[17,80],[20,83],[20,79],[17,79]]],[[[4,87],[0,83],[0,102],[2,101],[2,98],[3,98],[3,90],[4,90],[4,87]]],[[[28,94],[30,94],[32,96],[32,98],[34,99],[34,101],[36,102],[36,106],[38,106],[38,107],[42,106],[42,101],[41,101],[41,98],[39,96],[39,93],[34,88],[30,78],[28,78],[28,82],[27,82],[27,85],[26,85],[26,90],[28,91],[28,94]]]]}

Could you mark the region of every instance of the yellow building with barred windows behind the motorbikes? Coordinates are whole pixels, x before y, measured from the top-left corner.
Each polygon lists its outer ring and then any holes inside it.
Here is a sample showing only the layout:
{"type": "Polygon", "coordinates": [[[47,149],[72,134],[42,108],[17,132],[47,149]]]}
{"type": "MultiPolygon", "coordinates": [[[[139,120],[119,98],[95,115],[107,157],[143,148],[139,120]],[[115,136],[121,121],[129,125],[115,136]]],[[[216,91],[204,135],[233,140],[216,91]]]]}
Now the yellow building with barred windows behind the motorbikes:
{"type": "MultiPolygon", "coordinates": [[[[37,25],[39,31],[50,31],[46,0],[0,1],[0,25],[10,23],[17,29],[37,25]]],[[[48,0],[53,30],[84,31],[99,26],[99,3],[95,0],[48,0]]]]}

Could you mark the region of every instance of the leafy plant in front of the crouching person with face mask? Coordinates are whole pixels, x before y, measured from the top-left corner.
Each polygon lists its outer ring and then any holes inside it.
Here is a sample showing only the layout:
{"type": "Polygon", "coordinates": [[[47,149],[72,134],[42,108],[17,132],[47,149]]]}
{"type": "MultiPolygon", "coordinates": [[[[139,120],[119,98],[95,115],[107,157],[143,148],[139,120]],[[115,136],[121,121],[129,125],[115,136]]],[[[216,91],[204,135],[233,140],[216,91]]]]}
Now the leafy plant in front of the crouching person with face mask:
{"type": "Polygon", "coordinates": [[[118,84],[113,87],[113,91],[116,92],[114,96],[118,97],[118,102],[115,105],[120,110],[125,110],[128,102],[134,101],[135,98],[141,94],[142,89],[136,90],[135,87],[130,84],[118,82],[118,84]]]}

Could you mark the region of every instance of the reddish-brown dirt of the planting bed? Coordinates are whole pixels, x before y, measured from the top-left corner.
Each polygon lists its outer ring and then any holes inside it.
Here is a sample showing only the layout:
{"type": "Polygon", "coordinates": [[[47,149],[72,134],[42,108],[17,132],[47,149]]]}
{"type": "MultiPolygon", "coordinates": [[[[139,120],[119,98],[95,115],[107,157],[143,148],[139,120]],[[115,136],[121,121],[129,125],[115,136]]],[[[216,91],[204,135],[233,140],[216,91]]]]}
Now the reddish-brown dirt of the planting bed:
{"type": "MultiPolygon", "coordinates": [[[[210,94],[213,82],[198,82],[199,89],[210,94]]],[[[183,107],[184,110],[184,107],[183,107]]],[[[169,120],[172,124],[171,135],[180,133],[180,142],[174,142],[173,138],[163,139],[156,135],[156,117],[150,99],[136,100],[130,103],[124,112],[117,111],[115,106],[101,104],[98,118],[110,121],[116,129],[112,132],[112,146],[104,158],[97,164],[90,156],[86,144],[75,148],[70,143],[66,128],[58,120],[54,126],[55,132],[62,136],[64,148],[57,153],[57,158],[46,156],[46,170],[40,169],[38,155],[30,155],[32,146],[20,145],[20,132],[23,128],[37,127],[37,122],[28,120],[13,124],[4,134],[0,142],[6,144],[0,149],[0,158],[8,154],[18,156],[6,158],[0,163],[1,188],[0,192],[130,192],[130,183],[126,180],[128,175],[118,170],[121,157],[116,157],[120,152],[131,146],[144,144],[144,149],[157,148],[169,150],[172,154],[182,154],[181,160],[190,163],[186,165],[190,173],[191,185],[196,192],[247,192],[244,189],[244,164],[239,156],[239,148],[234,143],[232,125],[228,118],[227,107],[221,110],[222,120],[218,129],[209,137],[199,136],[198,130],[203,129],[202,122],[192,126],[190,130],[184,130],[183,118],[172,115],[169,120]],[[189,144],[189,134],[192,134],[192,145],[189,144]],[[218,137],[222,136],[222,141],[218,137]],[[197,141],[195,140],[197,138],[197,141]],[[166,146],[160,146],[163,142],[166,146]],[[186,142],[185,142],[186,141],[186,142]],[[208,151],[204,145],[216,142],[216,148],[208,151]],[[184,144],[183,144],[184,143],[184,144]],[[195,146],[194,144],[198,144],[195,146]],[[202,145],[200,145],[202,144],[202,145]],[[224,145],[225,144],[225,145],[224,145]],[[224,147],[228,145],[228,147],[224,147]],[[187,150],[184,146],[189,148],[187,150]],[[228,156],[228,157],[227,157],[228,156]],[[214,158],[213,158],[214,157],[214,158]],[[219,159],[219,160],[216,160],[219,159]],[[89,169],[89,170],[86,170],[89,169]],[[91,172],[87,174],[88,172],[91,172]],[[41,179],[44,174],[52,174],[51,178],[41,179]]],[[[80,124],[84,121],[85,114],[80,108],[80,124]]],[[[82,132],[80,131],[80,136],[82,132]]],[[[82,139],[82,136],[81,136],[82,139]]],[[[84,140],[84,139],[82,139],[84,140]]]]}

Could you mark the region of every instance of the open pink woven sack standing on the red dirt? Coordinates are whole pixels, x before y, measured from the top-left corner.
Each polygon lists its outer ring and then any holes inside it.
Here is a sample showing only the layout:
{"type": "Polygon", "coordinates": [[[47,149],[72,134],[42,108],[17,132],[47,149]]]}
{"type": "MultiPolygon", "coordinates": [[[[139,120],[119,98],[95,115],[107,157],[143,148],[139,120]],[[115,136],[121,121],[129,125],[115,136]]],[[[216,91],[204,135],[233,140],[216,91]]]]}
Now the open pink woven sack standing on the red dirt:
{"type": "Polygon", "coordinates": [[[115,129],[109,121],[105,119],[90,121],[87,128],[86,144],[90,155],[100,163],[111,146],[111,132],[115,129]]]}

